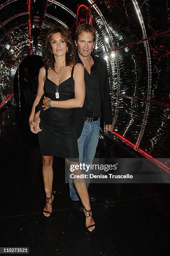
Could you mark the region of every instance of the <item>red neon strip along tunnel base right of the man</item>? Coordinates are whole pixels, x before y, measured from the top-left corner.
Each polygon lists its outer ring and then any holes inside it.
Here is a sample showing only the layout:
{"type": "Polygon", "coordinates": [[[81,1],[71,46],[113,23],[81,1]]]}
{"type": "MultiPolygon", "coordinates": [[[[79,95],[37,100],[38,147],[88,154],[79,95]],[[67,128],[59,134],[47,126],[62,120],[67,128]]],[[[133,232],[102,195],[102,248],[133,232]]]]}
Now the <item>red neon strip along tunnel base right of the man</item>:
{"type": "Polygon", "coordinates": [[[134,148],[136,151],[138,151],[140,154],[144,155],[146,158],[151,159],[153,162],[155,162],[155,164],[157,164],[158,166],[160,166],[162,169],[164,169],[166,172],[168,172],[170,174],[170,168],[168,168],[165,164],[162,164],[160,161],[158,161],[157,159],[155,159],[153,156],[150,156],[149,154],[147,154],[145,151],[143,151],[140,148],[135,148],[135,145],[128,141],[127,139],[125,139],[124,137],[122,137],[121,135],[119,135],[118,133],[115,133],[114,131],[111,131],[111,133],[113,133],[115,136],[117,136],[119,139],[121,139],[122,141],[124,141],[125,143],[127,143],[129,146],[131,146],[132,148],[134,148]]]}

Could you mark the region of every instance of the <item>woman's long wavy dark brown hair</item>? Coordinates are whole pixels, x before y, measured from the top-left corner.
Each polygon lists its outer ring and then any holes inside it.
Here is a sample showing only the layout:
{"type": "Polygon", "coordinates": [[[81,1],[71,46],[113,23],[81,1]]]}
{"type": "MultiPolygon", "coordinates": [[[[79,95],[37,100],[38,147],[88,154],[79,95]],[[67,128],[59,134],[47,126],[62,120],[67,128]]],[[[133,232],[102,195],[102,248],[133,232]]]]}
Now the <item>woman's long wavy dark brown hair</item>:
{"type": "Polygon", "coordinates": [[[52,53],[51,48],[51,36],[54,33],[61,33],[61,38],[66,42],[68,47],[68,53],[66,53],[66,66],[72,66],[75,64],[75,53],[76,53],[76,46],[74,41],[71,38],[71,34],[67,28],[62,25],[53,26],[44,38],[44,45],[43,45],[43,63],[46,68],[54,69],[54,55],[52,53]]]}

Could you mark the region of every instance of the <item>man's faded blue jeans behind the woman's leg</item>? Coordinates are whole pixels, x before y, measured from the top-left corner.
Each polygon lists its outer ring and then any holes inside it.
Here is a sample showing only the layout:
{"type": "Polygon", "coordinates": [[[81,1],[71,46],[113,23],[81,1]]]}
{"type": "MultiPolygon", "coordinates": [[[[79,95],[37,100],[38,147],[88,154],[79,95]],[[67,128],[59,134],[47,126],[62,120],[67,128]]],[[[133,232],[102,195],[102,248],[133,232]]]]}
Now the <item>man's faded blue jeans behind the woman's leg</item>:
{"type": "MultiPolygon", "coordinates": [[[[94,122],[84,122],[84,127],[81,136],[77,140],[79,148],[79,162],[85,164],[91,164],[93,162],[96,147],[99,141],[99,129],[100,129],[100,118],[94,122]]],[[[90,169],[86,172],[85,169],[82,170],[84,174],[90,174],[90,169]]],[[[77,201],[79,197],[77,195],[76,189],[74,187],[74,181],[69,175],[69,187],[70,187],[70,197],[71,200],[77,201]]],[[[87,188],[89,187],[90,179],[86,179],[87,188]]]]}

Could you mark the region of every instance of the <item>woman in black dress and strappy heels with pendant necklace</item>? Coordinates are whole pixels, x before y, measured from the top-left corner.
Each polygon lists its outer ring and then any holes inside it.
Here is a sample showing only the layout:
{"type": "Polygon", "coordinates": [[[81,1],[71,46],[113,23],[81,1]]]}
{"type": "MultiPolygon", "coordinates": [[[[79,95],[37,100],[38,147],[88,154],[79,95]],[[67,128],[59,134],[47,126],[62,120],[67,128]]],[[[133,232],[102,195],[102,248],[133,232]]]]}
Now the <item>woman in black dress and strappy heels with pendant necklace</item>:
{"type": "MultiPolygon", "coordinates": [[[[69,31],[63,26],[51,28],[44,43],[44,64],[38,76],[38,91],[29,118],[30,130],[38,133],[43,159],[43,180],[46,192],[46,205],[43,210],[45,217],[52,212],[53,156],[66,158],[67,164],[77,164],[79,159],[76,128],[74,124],[74,108],[84,104],[85,84],[84,67],[75,64],[75,44],[69,31]],[[35,107],[44,97],[41,110],[41,129],[36,128],[33,121],[35,107]]],[[[80,169],[76,174],[81,174],[80,169]]],[[[76,182],[76,190],[84,205],[86,227],[89,232],[94,230],[89,195],[85,179],[76,182]],[[87,209],[87,210],[86,210],[87,209]]]]}

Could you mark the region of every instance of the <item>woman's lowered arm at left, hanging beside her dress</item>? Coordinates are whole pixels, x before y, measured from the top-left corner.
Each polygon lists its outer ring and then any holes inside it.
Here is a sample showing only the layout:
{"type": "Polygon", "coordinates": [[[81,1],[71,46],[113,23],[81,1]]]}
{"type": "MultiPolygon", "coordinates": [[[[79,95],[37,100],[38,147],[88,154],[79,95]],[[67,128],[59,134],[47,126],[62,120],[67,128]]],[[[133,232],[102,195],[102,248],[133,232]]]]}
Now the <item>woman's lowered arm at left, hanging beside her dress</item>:
{"type": "Polygon", "coordinates": [[[36,98],[33,102],[33,107],[32,107],[32,110],[31,110],[31,113],[30,113],[30,117],[29,117],[29,124],[30,124],[30,129],[31,131],[33,130],[33,120],[34,120],[34,114],[35,114],[35,108],[36,108],[36,105],[38,105],[38,102],[40,101],[41,99],[41,96],[44,94],[44,90],[43,90],[43,87],[44,87],[44,79],[46,77],[46,70],[44,67],[41,67],[40,71],[39,71],[39,74],[38,74],[38,90],[37,90],[37,95],[36,95],[36,98]]]}

